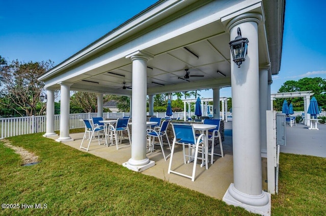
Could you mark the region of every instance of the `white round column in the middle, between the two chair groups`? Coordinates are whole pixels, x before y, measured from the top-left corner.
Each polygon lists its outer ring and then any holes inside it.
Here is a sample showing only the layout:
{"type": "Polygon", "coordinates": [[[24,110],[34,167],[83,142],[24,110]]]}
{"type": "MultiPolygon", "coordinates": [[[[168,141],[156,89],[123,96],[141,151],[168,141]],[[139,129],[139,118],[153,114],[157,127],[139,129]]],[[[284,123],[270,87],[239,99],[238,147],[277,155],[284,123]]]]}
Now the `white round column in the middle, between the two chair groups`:
{"type": "Polygon", "coordinates": [[[131,158],[123,166],[140,172],[155,165],[146,157],[147,61],[152,57],[143,52],[132,53],[132,136],[131,158]]]}

